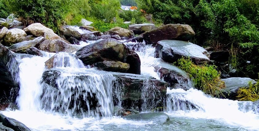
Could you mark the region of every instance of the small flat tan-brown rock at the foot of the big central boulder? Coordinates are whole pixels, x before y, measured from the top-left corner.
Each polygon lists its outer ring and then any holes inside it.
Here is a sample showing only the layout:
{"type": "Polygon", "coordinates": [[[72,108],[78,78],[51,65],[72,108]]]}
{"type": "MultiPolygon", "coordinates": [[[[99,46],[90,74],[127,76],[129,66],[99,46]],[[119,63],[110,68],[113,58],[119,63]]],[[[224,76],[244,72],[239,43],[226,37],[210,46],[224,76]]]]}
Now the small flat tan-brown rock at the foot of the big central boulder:
{"type": "Polygon", "coordinates": [[[103,62],[97,62],[94,64],[95,67],[108,71],[108,72],[122,72],[126,73],[127,70],[130,68],[130,64],[128,63],[123,63],[120,61],[103,61],[103,62]]]}

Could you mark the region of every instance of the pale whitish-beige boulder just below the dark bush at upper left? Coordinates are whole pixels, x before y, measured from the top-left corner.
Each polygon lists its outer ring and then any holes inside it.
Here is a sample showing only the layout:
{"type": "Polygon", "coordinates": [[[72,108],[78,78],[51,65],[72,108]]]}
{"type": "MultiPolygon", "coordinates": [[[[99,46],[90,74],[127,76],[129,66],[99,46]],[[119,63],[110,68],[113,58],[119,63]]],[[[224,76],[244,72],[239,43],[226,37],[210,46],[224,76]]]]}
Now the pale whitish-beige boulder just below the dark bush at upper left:
{"type": "Polygon", "coordinates": [[[48,32],[48,31],[53,32],[53,30],[43,26],[41,23],[33,23],[33,24],[29,25],[28,27],[24,28],[23,30],[27,33],[30,33],[30,34],[38,36],[38,37],[43,36],[44,33],[48,32]]]}

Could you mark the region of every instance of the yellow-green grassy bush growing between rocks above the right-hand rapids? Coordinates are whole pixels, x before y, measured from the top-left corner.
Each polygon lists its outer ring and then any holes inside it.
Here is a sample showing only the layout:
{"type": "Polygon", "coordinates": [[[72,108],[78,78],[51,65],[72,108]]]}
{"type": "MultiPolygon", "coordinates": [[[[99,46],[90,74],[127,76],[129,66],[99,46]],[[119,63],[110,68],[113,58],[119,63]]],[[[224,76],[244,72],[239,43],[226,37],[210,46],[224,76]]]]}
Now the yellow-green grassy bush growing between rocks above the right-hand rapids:
{"type": "Polygon", "coordinates": [[[220,74],[215,65],[195,65],[191,59],[182,57],[175,63],[180,69],[189,73],[194,81],[195,87],[203,92],[210,94],[212,97],[224,96],[220,89],[224,88],[224,82],[219,80],[220,74]]]}

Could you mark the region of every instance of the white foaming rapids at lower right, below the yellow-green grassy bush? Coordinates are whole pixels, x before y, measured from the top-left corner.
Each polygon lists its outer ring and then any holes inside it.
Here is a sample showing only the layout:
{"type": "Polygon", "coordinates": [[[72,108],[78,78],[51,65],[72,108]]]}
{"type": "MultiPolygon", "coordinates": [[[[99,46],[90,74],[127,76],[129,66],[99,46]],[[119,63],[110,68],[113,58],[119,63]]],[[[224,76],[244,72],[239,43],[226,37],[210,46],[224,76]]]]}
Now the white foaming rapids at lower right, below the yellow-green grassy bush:
{"type": "MultiPolygon", "coordinates": [[[[190,117],[190,118],[203,118],[214,119],[221,122],[226,122],[230,125],[242,126],[249,129],[259,129],[259,115],[253,111],[240,110],[240,103],[237,100],[218,99],[205,95],[204,92],[189,89],[187,91],[183,89],[167,89],[167,94],[171,96],[178,96],[178,100],[182,100],[181,104],[185,104],[187,101],[195,105],[197,109],[184,110],[178,107],[178,111],[172,109],[172,105],[167,105],[167,114],[177,117],[190,117]]],[[[171,102],[168,97],[168,102],[171,102]]],[[[177,107],[174,107],[177,108],[177,107]]]]}

